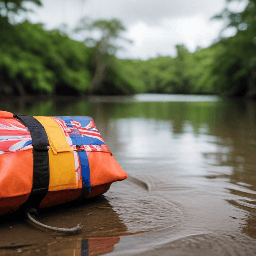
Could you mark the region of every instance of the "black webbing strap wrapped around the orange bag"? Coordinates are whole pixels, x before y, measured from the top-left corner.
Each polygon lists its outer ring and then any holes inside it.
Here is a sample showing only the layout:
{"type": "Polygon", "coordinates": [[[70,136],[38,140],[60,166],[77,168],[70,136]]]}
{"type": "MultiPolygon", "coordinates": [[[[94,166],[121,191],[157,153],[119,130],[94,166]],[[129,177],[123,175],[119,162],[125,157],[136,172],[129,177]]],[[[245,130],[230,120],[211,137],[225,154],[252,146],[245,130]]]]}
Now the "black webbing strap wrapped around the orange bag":
{"type": "Polygon", "coordinates": [[[44,127],[32,116],[14,115],[29,130],[33,144],[33,187],[26,208],[38,208],[49,189],[49,140],[44,127]]]}

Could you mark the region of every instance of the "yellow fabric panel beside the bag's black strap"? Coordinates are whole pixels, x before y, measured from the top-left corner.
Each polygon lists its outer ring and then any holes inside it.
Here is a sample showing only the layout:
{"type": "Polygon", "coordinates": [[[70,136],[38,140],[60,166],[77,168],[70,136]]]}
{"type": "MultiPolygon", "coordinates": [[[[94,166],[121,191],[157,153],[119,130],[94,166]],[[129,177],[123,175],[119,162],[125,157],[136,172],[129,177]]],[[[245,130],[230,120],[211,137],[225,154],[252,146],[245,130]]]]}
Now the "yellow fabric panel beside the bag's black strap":
{"type": "Polygon", "coordinates": [[[44,127],[49,143],[50,184],[49,191],[78,188],[74,154],[65,134],[50,117],[34,116],[44,127]]]}

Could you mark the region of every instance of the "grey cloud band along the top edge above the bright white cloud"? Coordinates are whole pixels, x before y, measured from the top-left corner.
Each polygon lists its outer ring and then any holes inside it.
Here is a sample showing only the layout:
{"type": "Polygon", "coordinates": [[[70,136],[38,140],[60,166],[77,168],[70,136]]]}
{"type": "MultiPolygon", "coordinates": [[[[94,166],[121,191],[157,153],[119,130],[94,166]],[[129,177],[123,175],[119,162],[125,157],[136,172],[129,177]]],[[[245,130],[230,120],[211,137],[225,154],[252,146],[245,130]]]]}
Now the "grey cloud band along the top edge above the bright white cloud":
{"type": "Polygon", "coordinates": [[[210,18],[224,8],[225,0],[87,0],[84,11],[95,18],[121,19],[125,25],[157,24],[164,18],[201,14],[210,18]]]}

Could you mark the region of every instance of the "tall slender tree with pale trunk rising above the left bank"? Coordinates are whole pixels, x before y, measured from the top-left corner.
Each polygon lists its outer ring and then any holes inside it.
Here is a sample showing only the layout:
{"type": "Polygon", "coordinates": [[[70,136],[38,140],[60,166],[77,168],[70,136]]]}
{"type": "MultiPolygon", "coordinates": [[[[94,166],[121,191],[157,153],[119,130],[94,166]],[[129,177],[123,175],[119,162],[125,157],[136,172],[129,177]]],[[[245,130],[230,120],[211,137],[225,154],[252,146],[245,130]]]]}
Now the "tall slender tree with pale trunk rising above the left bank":
{"type": "Polygon", "coordinates": [[[82,19],[78,28],[75,29],[76,32],[98,31],[101,34],[98,40],[94,38],[86,38],[84,40],[87,46],[95,47],[95,72],[88,89],[88,94],[98,93],[102,90],[113,56],[117,50],[122,48],[116,42],[120,39],[131,42],[120,36],[120,33],[125,30],[122,23],[117,19],[91,22],[86,18],[82,19]]]}

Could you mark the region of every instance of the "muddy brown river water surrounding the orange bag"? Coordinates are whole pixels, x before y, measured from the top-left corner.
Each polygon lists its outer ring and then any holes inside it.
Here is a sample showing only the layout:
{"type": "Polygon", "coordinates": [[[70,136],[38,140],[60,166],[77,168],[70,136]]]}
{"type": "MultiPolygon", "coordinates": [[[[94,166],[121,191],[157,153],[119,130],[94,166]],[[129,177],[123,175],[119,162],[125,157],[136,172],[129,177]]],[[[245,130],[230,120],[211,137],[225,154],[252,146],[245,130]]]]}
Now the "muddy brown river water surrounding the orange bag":
{"type": "Polygon", "coordinates": [[[256,102],[217,96],[136,95],[6,100],[27,115],[91,116],[128,179],[102,197],[0,218],[2,255],[256,254],[256,102]]]}

